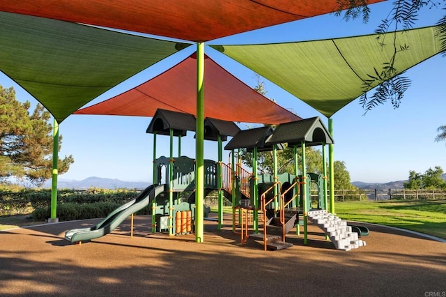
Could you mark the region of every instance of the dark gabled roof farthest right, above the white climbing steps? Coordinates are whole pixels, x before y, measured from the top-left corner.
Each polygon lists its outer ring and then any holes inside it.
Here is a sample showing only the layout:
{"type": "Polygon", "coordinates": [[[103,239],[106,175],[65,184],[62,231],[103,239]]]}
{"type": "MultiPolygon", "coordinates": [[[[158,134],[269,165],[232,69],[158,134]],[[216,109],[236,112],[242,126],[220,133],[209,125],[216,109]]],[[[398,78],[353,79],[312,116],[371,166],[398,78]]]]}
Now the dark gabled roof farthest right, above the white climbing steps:
{"type": "Polygon", "coordinates": [[[302,142],[305,142],[306,146],[334,143],[318,116],[280,124],[272,132],[271,137],[266,140],[268,145],[288,143],[289,146],[301,146],[302,142]]]}

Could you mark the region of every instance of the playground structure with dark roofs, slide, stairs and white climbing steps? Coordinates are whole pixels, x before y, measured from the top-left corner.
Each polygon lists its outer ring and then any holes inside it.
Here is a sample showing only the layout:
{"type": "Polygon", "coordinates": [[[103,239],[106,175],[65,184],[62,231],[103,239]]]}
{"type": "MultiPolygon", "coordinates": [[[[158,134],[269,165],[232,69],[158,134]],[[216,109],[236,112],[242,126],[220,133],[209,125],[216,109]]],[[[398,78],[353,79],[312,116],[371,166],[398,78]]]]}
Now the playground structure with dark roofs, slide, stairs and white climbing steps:
{"type": "Polygon", "coordinates": [[[205,197],[210,191],[218,192],[218,229],[223,224],[224,197],[231,200],[232,229],[240,233],[242,244],[252,238],[262,242],[264,250],[289,248],[292,244],[286,243],[285,238],[294,227],[298,235],[301,227],[303,228],[304,243],[307,244],[307,220],[312,220],[321,227],[337,249],[350,250],[365,244],[358,235],[367,235],[368,231],[359,226],[347,226],[345,221],[327,212],[325,162],[324,174],[307,173],[305,170],[306,146],[322,145],[325,160],[325,144],[333,143],[330,133],[318,117],[284,123],[275,129],[265,126],[249,130],[240,130],[233,122],[206,119],[205,139],[219,142],[219,160],[204,160],[203,189],[197,189],[195,183],[195,160],[180,154],[181,137],[188,130],[194,131],[194,128],[194,116],[158,109],[146,130],[154,135],[153,185],[134,201],[116,209],[95,227],[67,231],[66,239],[81,242],[103,236],[116,228],[128,215],[147,206],[152,209],[153,233],[167,232],[169,236],[191,233],[200,224],[197,213],[202,212],[205,220],[210,213],[210,208],[195,201],[197,191],[203,190],[205,197]],[[169,135],[169,157],[156,158],[157,135],[169,135]],[[232,162],[226,165],[222,162],[222,141],[228,136],[233,138],[225,149],[231,151],[232,162]],[[178,137],[178,157],[174,157],[174,137],[178,137]],[[277,150],[282,149],[284,143],[293,147],[294,174],[277,173],[277,150]],[[251,173],[238,160],[236,150],[241,148],[253,154],[251,173]],[[302,149],[300,175],[298,148],[302,149]],[[273,174],[257,173],[259,151],[272,151],[273,174]],[[312,195],[312,188],[316,190],[316,195],[312,195]],[[249,234],[250,223],[254,231],[252,234],[249,234]],[[260,226],[262,232],[259,232],[260,226]]]}

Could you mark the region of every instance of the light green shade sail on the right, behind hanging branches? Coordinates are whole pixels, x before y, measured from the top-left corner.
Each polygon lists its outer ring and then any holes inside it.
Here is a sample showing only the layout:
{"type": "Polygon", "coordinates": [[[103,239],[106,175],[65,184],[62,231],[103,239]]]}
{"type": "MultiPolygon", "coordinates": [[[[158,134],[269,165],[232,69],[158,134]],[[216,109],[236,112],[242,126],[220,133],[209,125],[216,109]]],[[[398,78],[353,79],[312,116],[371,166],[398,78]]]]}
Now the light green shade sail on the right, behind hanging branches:
{"type": "Polygon", "coordinates": [[[330,117],[361,96],[369,75],[376,76],[375,70],[380,73],[390,62],[394,38],[399,51],[394,62],[398,73],[441,51],[435,26],[385,35],[213,47],[330,117]],[[408,49],[401,50],[405,46],[408,49]]]}

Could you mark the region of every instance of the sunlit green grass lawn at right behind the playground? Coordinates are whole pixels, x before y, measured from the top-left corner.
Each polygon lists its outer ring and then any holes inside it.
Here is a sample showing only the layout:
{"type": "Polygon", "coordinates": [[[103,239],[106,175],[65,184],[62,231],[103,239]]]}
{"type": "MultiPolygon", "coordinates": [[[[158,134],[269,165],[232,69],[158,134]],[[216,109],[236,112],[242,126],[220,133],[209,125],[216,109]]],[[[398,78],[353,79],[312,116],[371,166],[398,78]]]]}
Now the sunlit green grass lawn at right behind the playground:
{"type": "MultiPolygon", "coordinates": [[[[212,207],[211,211],[216,213],[217,208],[212,207]]],[[[337,202],[334,211],[343,220],[383,224],[446,239],[444,200],[337,202]]],[[[231,206],[224,212],[231,213],[231,206]]]]}

